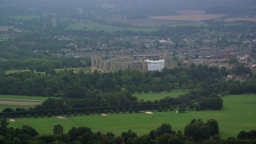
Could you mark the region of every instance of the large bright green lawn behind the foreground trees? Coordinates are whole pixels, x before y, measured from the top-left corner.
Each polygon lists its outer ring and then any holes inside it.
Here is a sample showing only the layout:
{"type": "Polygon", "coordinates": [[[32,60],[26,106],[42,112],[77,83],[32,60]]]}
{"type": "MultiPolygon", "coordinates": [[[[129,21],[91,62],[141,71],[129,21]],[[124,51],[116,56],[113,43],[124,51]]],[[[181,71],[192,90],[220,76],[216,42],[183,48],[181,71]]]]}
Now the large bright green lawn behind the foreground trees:
{"type": "Polygon", "coordinates": [[[29,125],[39,134],[53,134],[53,126],[61,124],[65,133],[72,126],[90,127],[94,132],[114,132],[120,135],[123,131],[133,130],[138,135],[149,134],[162,123],[170,123],[173,130],[184,130],[193,118],[204,122],[210,118],[218,121],[222,138],[236,137],[241,130],[256,130],[256,96],[255,94],[227,95],[223,97],[223,110],[186,111],[176,114],[175,111],[155,112],[154,114],[108,114],[74,116],[64,118],[17,118],[9,126],[29,125]]]}

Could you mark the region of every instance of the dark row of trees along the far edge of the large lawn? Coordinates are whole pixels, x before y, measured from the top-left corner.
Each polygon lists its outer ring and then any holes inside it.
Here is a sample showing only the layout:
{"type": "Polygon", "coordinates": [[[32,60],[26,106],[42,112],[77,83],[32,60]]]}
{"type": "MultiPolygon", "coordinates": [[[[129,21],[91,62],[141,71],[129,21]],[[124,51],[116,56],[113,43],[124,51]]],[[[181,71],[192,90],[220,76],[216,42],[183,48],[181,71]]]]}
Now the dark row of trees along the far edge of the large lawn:
{"type": "Polygon", "coordinates": [[[48,98],[42,102],[41,106],[35,106],[28,110],[17,108],[12,110],[6,108],[2,110],[0,116],[3,118],[20,118],[52,115],[70,114],[113,114],[113,113],[138,113],[145,110],[178,110],[185,112],[187,107],[190,110],[221,110],[223,106],[222,98],[218,96],[206,97],[200,95],[199,91],[191,91],[178,98],[164,98],[154,102],[137,101],[127,92],[102,93],[92,95],[91,98],[82,99],[54,99],[48,98]],[[196,95],[196,96],[195,96],[196,95]]]}

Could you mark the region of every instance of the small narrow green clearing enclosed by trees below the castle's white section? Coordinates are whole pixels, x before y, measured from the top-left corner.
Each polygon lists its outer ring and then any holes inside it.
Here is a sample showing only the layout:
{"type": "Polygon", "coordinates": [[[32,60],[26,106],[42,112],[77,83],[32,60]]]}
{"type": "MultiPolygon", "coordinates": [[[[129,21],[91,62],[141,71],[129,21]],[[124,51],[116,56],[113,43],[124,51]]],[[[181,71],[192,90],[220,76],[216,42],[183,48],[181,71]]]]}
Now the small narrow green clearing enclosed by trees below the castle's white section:
{"type": "Polygon", "coordinates": [[[135,97],[138,98],[138,101],[143,99],[144,102],[151,101],[154,102],[155,100],[159,100],[166,97],[176,98],[179,95],[186,94],[188,91],[186,90],[177,90],[172,92],[166,93],[149,93],[149,94],[133,94],[135,97]]]}

